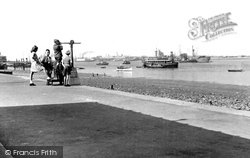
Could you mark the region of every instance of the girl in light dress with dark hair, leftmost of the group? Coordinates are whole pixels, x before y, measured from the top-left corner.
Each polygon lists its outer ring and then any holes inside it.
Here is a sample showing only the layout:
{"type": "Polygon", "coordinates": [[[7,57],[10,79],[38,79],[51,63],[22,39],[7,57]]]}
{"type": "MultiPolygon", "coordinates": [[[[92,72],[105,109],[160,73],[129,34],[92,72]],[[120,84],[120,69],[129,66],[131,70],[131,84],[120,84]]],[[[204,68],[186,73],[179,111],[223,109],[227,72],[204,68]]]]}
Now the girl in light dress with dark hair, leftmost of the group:
{"type": "Polygon", "coordinates": [[[34,45],[31,49],[32,56],[31,56],[31,68],[30,68],[30,86],[36,86],[33,83],[34,73],[36,73],[38,71],[42,71],[41,63],[40,63],[38,56],[36,54],[37,50],[38,50],[38,47],[36,45],[34,45]]]}

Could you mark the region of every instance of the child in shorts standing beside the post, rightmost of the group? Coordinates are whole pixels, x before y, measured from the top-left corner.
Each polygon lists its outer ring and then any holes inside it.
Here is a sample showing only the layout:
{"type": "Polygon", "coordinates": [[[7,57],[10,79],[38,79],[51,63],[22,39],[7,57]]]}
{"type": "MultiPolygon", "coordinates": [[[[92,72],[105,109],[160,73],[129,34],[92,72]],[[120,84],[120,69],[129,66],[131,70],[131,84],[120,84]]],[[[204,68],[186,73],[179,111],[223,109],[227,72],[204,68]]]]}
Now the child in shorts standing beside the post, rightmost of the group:
{"type": "Polygon", "coordinates": [[[66,53],[66,57],[63,59],[63,75],[64,75],[64,86],[70,86],[70,74],[71,74],[71,59],[70,59],[70,51],[68,50],[66,53]]]}

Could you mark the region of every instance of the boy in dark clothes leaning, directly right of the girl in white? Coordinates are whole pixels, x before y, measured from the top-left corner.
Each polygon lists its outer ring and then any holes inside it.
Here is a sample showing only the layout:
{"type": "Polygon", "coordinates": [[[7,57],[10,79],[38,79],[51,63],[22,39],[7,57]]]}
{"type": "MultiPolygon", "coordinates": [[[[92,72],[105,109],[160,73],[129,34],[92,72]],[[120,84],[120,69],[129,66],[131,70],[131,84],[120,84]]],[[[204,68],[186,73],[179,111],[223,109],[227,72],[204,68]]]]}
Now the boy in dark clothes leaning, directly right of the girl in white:
{"type": "Polygon", "coordinates": [[[51,74],[53,70],[52,60],[50,55],[50,50],[46,49],[45,56],[43,57],[41,63],[43,64],[43,67],[45,68],[45,73],[47,75],[47,85],[49,85],[51,80],[51,74]]]}

